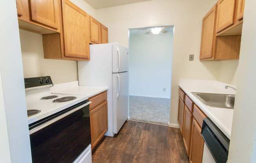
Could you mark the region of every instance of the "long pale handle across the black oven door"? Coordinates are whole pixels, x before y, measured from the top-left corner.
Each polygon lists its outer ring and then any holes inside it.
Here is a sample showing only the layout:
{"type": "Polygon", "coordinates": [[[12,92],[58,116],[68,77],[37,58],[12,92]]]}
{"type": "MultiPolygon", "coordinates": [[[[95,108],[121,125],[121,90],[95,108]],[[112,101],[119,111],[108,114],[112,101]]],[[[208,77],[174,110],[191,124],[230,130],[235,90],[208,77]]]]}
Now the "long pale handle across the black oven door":
{"type": "Polygon", "coordinates": [[[91,101],[89,101],[89,102],[87,102],[87,103],[84,103],[84,104],[82,104],[82,105],[76,107],[75,109],[70,110],[69,112],[66,112],[66,113],[64,113],[64,114],[61,114],[60,116],[58,116],[58,117],[56,117],[56,118],[53,118],[52,120],[49,120],[49,121],[47,121],[46,123],[43,123],[42,125],[39,125],[39,126],[35,127],[34,129],[29,130],[29,135],[31,135],[31,134],[33,134],[33,133],[35,133],[35,132],[37,132],[37,131],[43,129],[43,128],[46,127],[46,126],[51,125],[52,123],[54,123],[54,122],[56,122],[56,121],[58,121],[58,120],[60,120],[60,119],[62,119],[62,118],[64,118],[64,117],[68,116],[69,114],[72,114],[73,112],[75,112],[75,111],[77,111],[77,110],[79,110],[79,109],[81,109],[81,108],[83,108],[83,107],[89,105],[90,103],[91,103],[91,101]]]}

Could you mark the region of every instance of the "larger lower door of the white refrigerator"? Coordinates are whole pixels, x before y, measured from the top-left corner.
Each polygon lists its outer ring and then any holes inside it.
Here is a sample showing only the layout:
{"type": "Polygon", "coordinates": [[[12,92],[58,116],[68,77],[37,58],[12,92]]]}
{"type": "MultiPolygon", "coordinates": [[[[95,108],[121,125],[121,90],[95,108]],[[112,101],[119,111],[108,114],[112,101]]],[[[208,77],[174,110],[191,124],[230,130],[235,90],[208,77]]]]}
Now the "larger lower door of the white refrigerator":
{"type": "Polygon", "coordinates": [[[128,72],[113,74],[113,132],[121,129],[128,118],[128,72]]]}

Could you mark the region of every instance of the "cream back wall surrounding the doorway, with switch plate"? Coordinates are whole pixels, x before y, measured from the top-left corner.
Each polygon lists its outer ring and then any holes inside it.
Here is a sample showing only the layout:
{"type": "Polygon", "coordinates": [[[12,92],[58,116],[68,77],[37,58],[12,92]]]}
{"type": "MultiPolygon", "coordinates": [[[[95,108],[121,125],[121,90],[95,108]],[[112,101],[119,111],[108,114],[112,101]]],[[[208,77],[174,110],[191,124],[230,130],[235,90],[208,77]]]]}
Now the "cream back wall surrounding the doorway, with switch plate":
{"type": "Polygon", "coordinates": [[[170,123],[177,124],[179,78],[216,80],[218,62],[200,62],[203,16],[217,0],[152,0],[97,10],[109,28],[110,42],[128,47],[128,29],[175,25],[170,123]],[[193,62],[189,54],[195,54],[193,62]]]}

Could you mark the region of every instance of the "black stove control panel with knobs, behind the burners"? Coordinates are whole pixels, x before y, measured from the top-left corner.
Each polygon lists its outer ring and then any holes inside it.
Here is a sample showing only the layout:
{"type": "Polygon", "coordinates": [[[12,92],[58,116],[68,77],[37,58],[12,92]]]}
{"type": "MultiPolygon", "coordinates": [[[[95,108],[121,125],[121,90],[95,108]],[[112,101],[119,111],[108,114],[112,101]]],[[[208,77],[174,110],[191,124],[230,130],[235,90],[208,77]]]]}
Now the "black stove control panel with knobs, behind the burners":
{"type": "Polygon", "coordinates": [[[25,78],[24,83],[25,83],[26,90],[53,86],[53,82],[51,81],[50,76],[43,76],[43,77],[37,77],[37,78],[25,78]]]}

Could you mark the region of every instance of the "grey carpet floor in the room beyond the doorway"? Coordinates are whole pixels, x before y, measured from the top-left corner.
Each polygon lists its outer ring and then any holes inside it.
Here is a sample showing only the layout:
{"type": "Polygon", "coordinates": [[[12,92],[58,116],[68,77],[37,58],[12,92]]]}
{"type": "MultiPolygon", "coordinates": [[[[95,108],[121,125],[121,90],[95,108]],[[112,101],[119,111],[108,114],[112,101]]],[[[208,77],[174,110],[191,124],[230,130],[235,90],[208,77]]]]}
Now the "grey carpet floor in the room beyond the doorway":
{"type": "Polygon", "coordinates": [[[168,125],[170,99],[130,96],[130,120],[168,125]]]}

